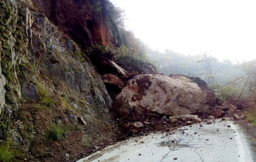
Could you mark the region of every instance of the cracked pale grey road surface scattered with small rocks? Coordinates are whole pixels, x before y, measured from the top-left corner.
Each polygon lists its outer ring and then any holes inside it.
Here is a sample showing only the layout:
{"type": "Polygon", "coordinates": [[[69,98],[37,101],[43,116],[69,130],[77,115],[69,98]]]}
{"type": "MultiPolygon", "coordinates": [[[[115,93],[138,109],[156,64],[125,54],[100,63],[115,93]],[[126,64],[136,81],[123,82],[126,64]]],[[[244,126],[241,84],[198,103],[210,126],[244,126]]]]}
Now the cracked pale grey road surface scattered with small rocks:
{"type": "Polygon", "coordinates": [[[153,133],[134,137],[78,162],[255,161],[250,151],[250,142],[246,140],[241,127],[230,120],[213,121],[212,124],[201,122],[191,127],[180,127],[168,136],[166,133],[153,133]]]}

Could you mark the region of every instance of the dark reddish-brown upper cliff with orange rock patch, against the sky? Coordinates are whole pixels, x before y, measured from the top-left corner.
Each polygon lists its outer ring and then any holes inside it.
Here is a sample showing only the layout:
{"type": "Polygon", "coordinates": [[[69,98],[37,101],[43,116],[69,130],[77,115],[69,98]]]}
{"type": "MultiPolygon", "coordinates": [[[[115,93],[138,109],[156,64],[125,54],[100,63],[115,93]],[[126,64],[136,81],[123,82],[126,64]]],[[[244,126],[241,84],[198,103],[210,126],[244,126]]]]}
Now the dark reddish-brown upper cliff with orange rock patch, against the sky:
{"type": "Polygon", "coordinates": [[[99,43],[116,47],[122,42],[110,18],[107,0],[23,0],[31,9],[44,14],[81,46],[99,43]]]}

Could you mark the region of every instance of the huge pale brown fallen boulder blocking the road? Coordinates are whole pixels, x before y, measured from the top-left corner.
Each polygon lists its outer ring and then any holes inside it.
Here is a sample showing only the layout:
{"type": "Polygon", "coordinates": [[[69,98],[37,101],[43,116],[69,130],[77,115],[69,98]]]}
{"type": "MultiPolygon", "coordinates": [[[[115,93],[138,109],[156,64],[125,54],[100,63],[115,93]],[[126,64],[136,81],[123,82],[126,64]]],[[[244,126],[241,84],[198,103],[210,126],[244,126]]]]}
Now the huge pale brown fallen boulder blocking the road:
{"type": "Polygon", "coordinates": [[[136,75],[116,96],[113,108],[124,114],[130,106],[137,113],[178,116],[207,111],[214,101],[215,95],[207,87],[184,76],[136,75]]]}

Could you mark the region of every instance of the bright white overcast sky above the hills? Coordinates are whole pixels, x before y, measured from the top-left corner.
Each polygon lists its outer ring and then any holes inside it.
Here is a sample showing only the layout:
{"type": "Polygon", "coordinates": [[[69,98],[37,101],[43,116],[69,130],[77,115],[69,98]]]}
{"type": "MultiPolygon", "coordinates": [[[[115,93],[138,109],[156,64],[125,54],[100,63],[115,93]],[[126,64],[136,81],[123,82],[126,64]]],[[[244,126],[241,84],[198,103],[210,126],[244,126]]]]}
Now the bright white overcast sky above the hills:
{"type": "Polygon", "coordinates": [[[256,58],[256,0],[112,0],[127,28],[152,49],[256,58]]]}

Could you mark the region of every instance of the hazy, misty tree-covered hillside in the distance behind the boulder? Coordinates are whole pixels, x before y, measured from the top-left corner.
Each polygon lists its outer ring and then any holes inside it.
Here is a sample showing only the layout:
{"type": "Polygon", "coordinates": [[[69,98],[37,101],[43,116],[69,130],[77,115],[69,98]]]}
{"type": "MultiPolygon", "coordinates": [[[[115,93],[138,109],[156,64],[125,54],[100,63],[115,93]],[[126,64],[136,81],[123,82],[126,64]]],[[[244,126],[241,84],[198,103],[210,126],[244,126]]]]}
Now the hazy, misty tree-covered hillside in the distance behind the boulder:
{"type": "MultiPolygon", "coordinates": [[[[191,75],[202,78],[208,83],[205,63],[197,61],[204,58],[204,55],[184,55],[174,52],[171,49],[166,49],[165,52],[149,50],[148,57],[154,61],[157,68],[164,75],[181,74],[191,75]],[[201,75],[200,75],[201,74],[201,75]]],[[[236,77],[241,72],[230,60],[212,61],[210,64],[214,82],[225,84],[231,78],[236,77]]]]}

